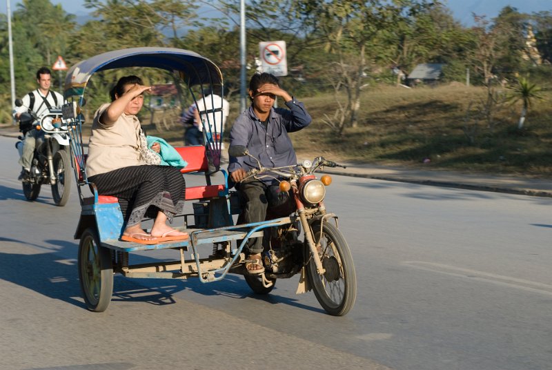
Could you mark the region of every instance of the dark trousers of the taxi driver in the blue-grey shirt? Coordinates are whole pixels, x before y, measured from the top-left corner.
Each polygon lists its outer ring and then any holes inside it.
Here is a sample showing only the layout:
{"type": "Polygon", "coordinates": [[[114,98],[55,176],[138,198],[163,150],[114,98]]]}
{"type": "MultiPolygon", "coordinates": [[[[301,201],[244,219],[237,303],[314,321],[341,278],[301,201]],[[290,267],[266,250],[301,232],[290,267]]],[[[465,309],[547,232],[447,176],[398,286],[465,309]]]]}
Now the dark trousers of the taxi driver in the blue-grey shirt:
{"type": "MultiPolygon", "coordinates": [[[[266,219],[268,200],[266,191],[268,186],[257,179],[246,180],[239,184],[239,202],[242,212],[237,218],[238,224],[249,224],[251,222],[262,222],[266,219]]],[[[250,238],[245,246],[249,254],[262,253],[263,238],[250,238]]]]}

